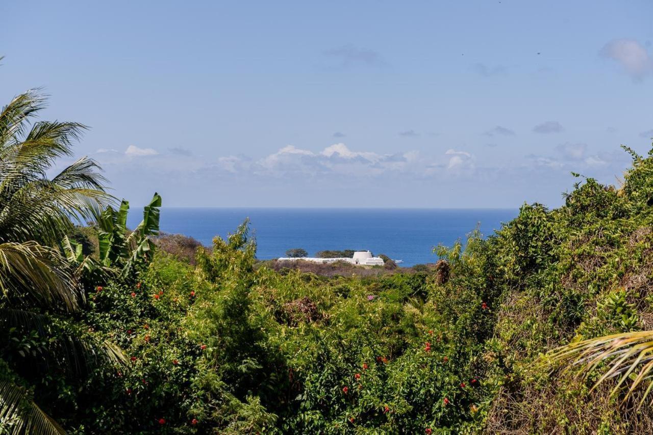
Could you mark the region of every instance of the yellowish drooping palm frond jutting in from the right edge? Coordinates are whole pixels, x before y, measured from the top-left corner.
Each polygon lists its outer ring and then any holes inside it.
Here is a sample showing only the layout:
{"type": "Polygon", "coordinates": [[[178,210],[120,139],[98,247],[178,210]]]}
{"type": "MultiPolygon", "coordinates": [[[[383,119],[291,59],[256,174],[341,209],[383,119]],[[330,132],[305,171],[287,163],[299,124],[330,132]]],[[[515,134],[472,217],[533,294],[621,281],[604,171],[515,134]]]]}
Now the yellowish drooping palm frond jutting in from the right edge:
{"type": "Polygon", "coordinates": [[[624,383],[631,379],[623,402],[635,390],[646,386],[639,404],[641,406],[653,388],[653,331],[620,333],[572,342],[549,352],[545,363],[565,365],[565,371],[577,369],[577,374],[584,378],[604,367],[605,371],[592,390],[606,380],[616,378],[613,395],[626,388],[624,383]]]}

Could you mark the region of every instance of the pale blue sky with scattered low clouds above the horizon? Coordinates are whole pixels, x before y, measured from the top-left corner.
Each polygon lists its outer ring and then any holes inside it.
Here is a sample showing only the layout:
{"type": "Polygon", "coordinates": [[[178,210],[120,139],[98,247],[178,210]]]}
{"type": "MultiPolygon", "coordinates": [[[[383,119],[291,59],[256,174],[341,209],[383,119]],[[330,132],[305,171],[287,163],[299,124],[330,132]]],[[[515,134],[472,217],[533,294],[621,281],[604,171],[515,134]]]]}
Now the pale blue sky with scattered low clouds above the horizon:
{"type": "MultiPolygon", "coordinates": [[[[653,2],[0,2],[0,102],[111,192],[206,207],[556,207],[653,137],[653,2]]],[[[67,164],[62,160],[61,165],[67,164]]]]}

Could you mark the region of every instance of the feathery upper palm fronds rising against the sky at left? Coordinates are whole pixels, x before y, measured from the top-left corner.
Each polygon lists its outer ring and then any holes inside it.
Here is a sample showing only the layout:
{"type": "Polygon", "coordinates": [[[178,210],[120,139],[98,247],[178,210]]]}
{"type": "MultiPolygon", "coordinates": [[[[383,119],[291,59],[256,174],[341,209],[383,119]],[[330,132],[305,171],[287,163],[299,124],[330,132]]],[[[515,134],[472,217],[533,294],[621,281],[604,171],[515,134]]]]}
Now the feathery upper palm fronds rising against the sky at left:
{"type": "Polygon", "coordinates": [[[45,101],[37,91],[28,91],[0,112],[0,243],[58,243],[72,220],[88,220],[115,201],[104,190],[106,179],[92,159],[80,158],[54,178],[47,177],[57,158],[72,155],[72,143],[86,126],[31,124],[45,101]]]}

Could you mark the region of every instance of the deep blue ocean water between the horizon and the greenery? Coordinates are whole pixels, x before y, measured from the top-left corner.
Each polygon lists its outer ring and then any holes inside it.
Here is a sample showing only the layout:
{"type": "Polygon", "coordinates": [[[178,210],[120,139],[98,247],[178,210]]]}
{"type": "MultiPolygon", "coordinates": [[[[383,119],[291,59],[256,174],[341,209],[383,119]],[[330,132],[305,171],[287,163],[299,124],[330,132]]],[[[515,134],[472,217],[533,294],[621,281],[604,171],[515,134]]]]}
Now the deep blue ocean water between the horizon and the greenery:
{"type": "MultiPolygon", "coordinates": [[[[142,213],[132,209],[129,227],[142,213]]],[[[451,246],[480,224],[490,235],[502,222],[517,216],[517,209],[293,209],[293,208],[161,208],[161,231],[195,237],[211,245],[215,235],[225,237],[247,217],[258,245],[257,258],[284,256],[290,248],[304,248],[310,256],[319,250],[371,250],[404,260],[403,266],[437,260],[432,248],[451,246]]]]}

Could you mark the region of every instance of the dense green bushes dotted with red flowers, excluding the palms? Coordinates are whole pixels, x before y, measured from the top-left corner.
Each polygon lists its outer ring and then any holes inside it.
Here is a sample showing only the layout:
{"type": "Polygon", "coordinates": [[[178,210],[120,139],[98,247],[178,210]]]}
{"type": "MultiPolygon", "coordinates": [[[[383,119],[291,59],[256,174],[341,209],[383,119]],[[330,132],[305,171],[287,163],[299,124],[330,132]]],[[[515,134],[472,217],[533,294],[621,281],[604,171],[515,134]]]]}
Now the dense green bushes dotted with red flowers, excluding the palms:
{"type": "Polygon", "coordinates": [[[597,374],[539,364],[650,328],[650,174],[639,158],[620,188],[586,179],[563,207],[524,205],[419,271],[274,271],[247,222],[192,264],[157,252],[87,289],[83,324],[126,362],[74,382],[53,370],[35,394],[72,433],[650,433],[649,408],[590,392],[597,374]]]}

